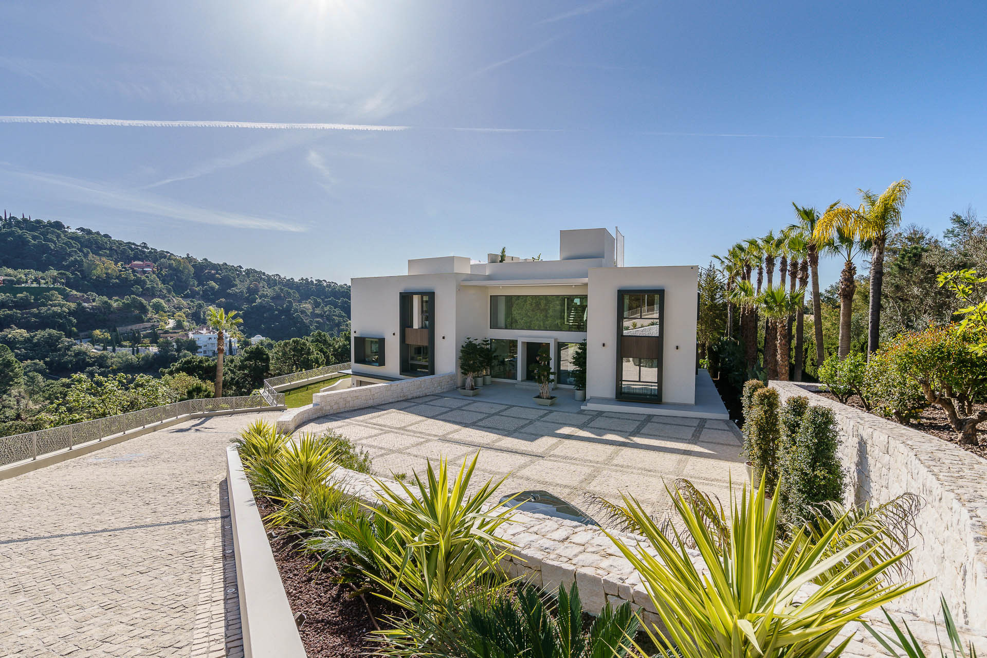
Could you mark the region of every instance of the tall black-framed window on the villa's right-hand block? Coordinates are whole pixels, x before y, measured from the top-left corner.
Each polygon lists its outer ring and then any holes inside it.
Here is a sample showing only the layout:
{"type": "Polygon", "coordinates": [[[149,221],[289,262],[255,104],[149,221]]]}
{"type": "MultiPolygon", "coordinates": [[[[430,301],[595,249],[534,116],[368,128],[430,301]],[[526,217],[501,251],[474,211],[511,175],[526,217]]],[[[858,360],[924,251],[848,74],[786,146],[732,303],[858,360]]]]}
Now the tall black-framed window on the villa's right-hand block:
{"type": "Polygon", "coordinates": [[[663,290],[617,293],[617,399],[661,402],[663,290]]]}

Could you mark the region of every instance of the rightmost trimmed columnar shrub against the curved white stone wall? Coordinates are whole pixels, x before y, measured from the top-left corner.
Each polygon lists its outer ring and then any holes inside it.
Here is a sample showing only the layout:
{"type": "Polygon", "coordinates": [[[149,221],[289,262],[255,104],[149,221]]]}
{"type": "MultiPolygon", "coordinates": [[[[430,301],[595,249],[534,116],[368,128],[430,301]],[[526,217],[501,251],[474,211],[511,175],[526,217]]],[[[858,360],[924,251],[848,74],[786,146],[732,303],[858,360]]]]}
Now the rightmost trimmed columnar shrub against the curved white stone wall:
{"type": "MultiPolygon", "coordinates": [[[[791,409],[793,416],[797,406],[791,409]]],[[[836,415],[832,409],[809,406],[797,425],[793,442],[779,460],[779,504],[782,517],[789,522],[807,517],[816,503],[842,500],[846,488],[846,475],[838,454],[836,415]]]]}

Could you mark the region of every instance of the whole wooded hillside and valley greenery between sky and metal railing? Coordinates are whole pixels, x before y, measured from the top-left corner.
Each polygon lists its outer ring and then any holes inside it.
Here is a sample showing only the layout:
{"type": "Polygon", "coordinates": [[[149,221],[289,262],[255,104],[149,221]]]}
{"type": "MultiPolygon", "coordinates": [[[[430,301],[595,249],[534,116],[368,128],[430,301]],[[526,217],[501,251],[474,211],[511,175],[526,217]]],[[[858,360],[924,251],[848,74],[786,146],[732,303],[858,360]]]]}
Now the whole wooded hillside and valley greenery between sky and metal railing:
{"type": "Polygon", "coordinates": [[[0,277],[0,436],[217,389],[249,395],[267,377],[349,358],[345,284],[16,217],[0,225],[0,277]],[[188,334],[210,324],[210,309],[243,319],[222,367],[188,334]]]}

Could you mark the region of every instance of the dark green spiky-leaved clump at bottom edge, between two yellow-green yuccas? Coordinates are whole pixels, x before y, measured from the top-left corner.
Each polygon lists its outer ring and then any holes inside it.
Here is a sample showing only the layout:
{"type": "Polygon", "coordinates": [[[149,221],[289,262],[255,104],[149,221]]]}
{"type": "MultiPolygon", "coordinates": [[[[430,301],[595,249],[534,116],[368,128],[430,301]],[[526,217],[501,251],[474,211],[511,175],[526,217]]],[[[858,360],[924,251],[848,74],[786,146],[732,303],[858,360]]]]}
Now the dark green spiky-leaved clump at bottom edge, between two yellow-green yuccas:
{"type": "Polygon", "coordinates": [[[455,656],[456,658],[622,658],[640,621],[626,603],[607,604],[588,631],[583,630],[582,602],[573,582],[560,585],[558,598],[532,585],[477,592],[468,605],[450,610],[451,622],[436,624],[429,616],[401,623],[403,632],[389,636],[380,654],[455,656]]]}

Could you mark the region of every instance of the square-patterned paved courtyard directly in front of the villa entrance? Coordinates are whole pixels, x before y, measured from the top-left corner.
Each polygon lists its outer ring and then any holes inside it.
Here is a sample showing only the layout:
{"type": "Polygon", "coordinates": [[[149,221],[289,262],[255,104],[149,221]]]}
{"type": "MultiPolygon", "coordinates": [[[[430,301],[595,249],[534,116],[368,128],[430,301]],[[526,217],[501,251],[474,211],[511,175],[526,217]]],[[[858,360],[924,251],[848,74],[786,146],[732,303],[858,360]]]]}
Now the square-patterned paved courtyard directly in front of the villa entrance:
{"type": "Polygon", "coordinates": [[[740,432],[725,420],[557,411],[453,394],[347,411],[300,429],[325,428],[365,448],[381,475],[411,475],[426,458],[461,462],[482,449],[478,473],[507,475],[504,493],[546,489],[576,505],[587,492],[620,500],[627,491],[660,513],[670,504],[665,482],[676,477],[725,505],[730,475],[738,484],[746,478],[740,432]]]}

